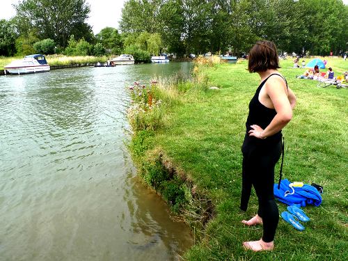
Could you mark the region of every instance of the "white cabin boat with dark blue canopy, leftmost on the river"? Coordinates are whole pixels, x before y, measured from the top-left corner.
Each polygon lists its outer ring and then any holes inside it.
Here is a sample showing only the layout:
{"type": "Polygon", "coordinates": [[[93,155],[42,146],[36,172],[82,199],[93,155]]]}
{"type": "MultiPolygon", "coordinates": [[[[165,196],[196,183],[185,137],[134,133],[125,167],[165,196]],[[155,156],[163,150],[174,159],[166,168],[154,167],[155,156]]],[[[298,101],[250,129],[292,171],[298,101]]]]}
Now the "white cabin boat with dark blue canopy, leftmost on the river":
{"type": "Polygon", "coordinates": [[[28,74],[36,72],[49,72],[50,67],[42,54],[31,54],[22,60],[16,60],[3,67],[5,73],[28,74]]]}

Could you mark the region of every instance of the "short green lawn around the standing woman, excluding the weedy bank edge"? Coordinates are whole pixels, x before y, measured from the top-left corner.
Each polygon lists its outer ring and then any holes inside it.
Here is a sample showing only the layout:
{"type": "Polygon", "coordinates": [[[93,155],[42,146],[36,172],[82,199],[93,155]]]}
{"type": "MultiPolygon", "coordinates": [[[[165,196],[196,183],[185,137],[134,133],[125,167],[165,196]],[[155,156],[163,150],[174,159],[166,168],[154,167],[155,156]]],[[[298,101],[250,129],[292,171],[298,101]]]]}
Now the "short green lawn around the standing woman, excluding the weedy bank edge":
{"type": "MultiPolygon", "coordinates": [[[[335,76],[348,70],[348,61],[328,60],[335,76]]],[[[214,219],[203,239],[187,251],[187,260],[348,260],[348,90],[317,88],[317,81],[296,79],[303,69],[293,69],[292,60],[281,65],[280,72],[297,97],[293,119],[283,130],[283,178],[321,184],[322,205],[304,208],[311,221],[303,232],[280,218],[274,251],[244,251],[242,242],[262,236],[262,227],[247,228],[241,223],[257,212],[255,193],[248,211],[239,210],[240,148],[248,102],[259,77],[246,71],[247,61],[207,68],[209,86],[220,89],[182,95],[152,138],[155,148],[161,148],[215,206],[214,219]]],[[[279,164],[276,180],[278,171],[279,164]]],[[[280,213],[286,210],[283,203],[278,207],[280,213]]]]}

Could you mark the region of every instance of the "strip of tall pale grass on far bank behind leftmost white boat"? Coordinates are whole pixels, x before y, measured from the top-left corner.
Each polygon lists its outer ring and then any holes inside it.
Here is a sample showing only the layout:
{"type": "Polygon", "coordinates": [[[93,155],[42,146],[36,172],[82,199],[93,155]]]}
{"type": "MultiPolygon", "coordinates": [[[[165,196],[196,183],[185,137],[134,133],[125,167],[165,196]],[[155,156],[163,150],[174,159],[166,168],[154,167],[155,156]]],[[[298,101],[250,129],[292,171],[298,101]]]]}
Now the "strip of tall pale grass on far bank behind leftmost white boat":
{"type": "MultiPolygon", "coordinates": [[[[3,66],[8,63],[22,59],[22,56],[17,57],[3,57],[0,56],[0,70],[3,70],[3,66]]],[[[85,64],[85,63],[105,63],[107,60],[106,56],[64,56],[61,54],[52,54],[46,56],[47,63],[49,65],[73,65],[73,64],[85,64]]]]}

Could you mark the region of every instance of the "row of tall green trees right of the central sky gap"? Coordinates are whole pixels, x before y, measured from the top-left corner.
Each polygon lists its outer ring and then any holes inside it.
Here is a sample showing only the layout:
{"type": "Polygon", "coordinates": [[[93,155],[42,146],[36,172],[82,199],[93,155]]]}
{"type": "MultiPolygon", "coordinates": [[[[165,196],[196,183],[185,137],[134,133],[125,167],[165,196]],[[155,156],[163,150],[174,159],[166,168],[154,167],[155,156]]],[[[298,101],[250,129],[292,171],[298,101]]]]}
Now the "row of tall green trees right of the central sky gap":
{"type": "Polygon", "coordinates": [[[347,26],[342,0],[128,0],[120,21],[122,32],[160,33],[164,49],[177,54],[240,55],[259,39],[280,52],[339,54],[347,26]]]}

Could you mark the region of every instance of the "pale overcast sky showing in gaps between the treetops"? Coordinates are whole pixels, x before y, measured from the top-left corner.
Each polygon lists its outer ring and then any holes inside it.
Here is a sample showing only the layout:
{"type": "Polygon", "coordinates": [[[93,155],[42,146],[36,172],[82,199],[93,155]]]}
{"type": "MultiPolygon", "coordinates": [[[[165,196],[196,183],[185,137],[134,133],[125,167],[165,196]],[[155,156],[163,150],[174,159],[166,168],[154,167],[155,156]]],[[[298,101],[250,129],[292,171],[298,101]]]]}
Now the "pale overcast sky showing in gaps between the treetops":
{"type": "MultiPolygon", "coordinates": [[[[13,3],[19,0],[0,0],[0,19],[9,19],[15,16],[13,3]]],[[[126,0],[87,0],[90,3],[90,18],[88,24],[93,26],[93,32],[99,33],[106,26],[118,29],[121,10],[126,0]]],[[[348,0],[343,0],[348,4],[348,0]]]]}

